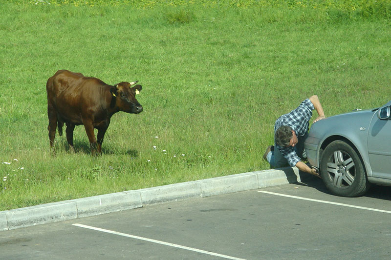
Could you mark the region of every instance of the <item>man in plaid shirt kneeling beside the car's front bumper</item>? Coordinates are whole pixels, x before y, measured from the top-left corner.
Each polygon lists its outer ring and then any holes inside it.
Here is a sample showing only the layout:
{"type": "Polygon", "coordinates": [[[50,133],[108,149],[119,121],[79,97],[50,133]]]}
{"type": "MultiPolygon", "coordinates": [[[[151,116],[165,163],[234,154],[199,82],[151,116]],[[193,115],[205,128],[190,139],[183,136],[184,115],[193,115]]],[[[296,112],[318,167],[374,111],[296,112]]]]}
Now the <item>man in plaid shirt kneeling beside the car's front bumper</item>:
{"type": "Polygon", "coordinates": [[[274,125],[274,144],[267,147],[263,159],[274,168],[290,165],[299,170],[316,176],[315,169],[308,167],[302,159],[306,158],[304,140],[308,137],[309,120],[312,110],[318,112],[319,117],[314,122],[325,118],[318,96],[314,95],[304,100],[299,107],[288,114],[282,115],[274,125]]]}

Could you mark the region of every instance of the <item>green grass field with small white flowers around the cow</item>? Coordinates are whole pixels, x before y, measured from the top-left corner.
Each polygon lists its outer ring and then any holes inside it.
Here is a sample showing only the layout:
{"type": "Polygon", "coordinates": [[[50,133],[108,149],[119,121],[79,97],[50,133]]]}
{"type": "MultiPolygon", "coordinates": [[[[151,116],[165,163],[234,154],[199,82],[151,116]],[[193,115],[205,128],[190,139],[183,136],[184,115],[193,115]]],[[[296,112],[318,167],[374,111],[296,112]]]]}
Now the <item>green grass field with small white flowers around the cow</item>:
{"type": "Polygon", "coordinates": [[[0,210],[267,169],[274,121],[305,98],[331,116],[391,97],[387,14],[34,2],[0,7],[0,210]],[[143,85],[144,111],[112,117],[103,156],[83,126],[77,154],[58,133],[50,154],[45,84],[58,69],[143,85]]]}

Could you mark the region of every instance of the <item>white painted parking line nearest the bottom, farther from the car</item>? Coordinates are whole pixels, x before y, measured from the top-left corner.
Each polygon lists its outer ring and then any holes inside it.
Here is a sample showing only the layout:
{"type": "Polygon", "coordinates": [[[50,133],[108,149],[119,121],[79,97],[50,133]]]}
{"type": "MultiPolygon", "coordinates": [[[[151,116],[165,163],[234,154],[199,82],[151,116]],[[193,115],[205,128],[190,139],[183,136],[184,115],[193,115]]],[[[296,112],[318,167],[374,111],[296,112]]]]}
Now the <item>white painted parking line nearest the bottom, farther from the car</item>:
{"type": "Polygon", "coordinates": [[[230,257],[230,256],[221,255],[221,254],[217,254],[217,253],[213,253],[213,252],[209,252],[209,251],[205,251],[205,250],[191,248],[191,247],[187,247],[187,246],[183,246],[183,245],[177,245],[177,244],[168,243],[168,242],[164,242],[164,241],[159,241],[159,240],[154,240],[154,239],[147,239],[147,238],[143,238],[143,237],[133,236],[133,235],[120,233],[120,232],[116,232],[116,231],[111,231],[111,230],[103,229],[103,228],[99,228],[99,227],[92,227],[92,226],[87,226],[87,225],[83,225],[83,224],[72,224],[72,225],[78,226],[78,227],[87,228],[87,229],[92,229],[92,230],[96,230],[96,231],[106,232],[106,233],[110,233],[110,234],[114,234],[114,235],[118,235],[118,236],[128,237],[128,238],[132,238],[132,239],[144,240],[144,241],[148,241],[148,242],[152,242],[152,243],[168,245],[168,246],[172,246],[172,247],[176,247],[176,248],[181,248],[181,249],[185,249],[185,250],[195,251],[197,253],[207,254],[207,255],[211,255],[211,256],[215,256],[215,257],[221,257],[221,258],[233,259],[233,260],[245,260],[245,259],[241,259],[241,258],[230,257]]]}

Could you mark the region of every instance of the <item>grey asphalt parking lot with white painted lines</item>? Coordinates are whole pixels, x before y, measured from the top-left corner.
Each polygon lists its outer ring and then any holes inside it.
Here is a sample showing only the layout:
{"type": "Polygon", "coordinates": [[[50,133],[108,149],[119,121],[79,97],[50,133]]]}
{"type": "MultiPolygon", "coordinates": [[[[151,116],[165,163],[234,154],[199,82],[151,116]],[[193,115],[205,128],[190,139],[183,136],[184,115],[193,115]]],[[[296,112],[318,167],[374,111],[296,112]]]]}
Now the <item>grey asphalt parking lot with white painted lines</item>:
{"type": "Polygon", "coordinates": [[[0,259],[390,259],[390,199],[311,179],[0,232],[0,259]]]}

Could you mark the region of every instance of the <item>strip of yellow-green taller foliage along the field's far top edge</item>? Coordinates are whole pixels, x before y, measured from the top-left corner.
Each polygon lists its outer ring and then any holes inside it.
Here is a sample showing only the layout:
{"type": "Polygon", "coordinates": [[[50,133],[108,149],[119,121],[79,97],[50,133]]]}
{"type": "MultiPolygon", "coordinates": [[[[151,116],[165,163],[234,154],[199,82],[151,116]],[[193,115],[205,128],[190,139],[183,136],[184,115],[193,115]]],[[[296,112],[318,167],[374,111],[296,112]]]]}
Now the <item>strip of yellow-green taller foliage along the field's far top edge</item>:
{"type": "MultiPolygon", "coordinates": [[[[327,20],[351,18],[391,19],[391,0],[14,0],[18,4],[72,5],[72,6],[132,6],[134,8],[161,7],[238,7],[238,8],[289,8],[316,10],[326,14],[327,20]]],[[[11,1],[12,2],[12,1],[11,1]]],[[[307,12],[306,11],[306,12],[307,12]]],[[[179,12],[165,10],[169,23],[188,23],[194,19],[189,9],[179,12]]],[[[276,12],[278,12],[276,10],[276,12]]]]}

